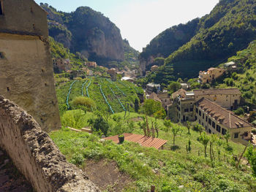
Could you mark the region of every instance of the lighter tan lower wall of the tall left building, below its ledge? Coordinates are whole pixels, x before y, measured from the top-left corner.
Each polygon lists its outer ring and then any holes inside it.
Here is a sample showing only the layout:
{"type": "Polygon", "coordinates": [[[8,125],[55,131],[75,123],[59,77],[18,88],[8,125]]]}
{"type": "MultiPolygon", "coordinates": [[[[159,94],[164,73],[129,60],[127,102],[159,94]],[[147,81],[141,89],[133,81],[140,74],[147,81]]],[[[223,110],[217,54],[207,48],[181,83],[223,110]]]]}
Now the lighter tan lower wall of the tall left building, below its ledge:
{"type": "Polygon", "coordinates": [[[29,112],[44,131],[61,127],[47,39],[0,33],[0,94],[29,112]]]}

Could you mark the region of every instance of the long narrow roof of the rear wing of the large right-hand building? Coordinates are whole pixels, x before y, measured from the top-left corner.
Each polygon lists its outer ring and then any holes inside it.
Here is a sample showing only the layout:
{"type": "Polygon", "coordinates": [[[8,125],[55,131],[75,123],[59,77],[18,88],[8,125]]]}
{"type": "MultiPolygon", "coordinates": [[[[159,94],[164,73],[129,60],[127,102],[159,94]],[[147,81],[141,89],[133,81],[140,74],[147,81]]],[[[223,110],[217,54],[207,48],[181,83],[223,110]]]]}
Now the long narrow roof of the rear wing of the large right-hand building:
{"type": "Polygon", "coordinates": [[[215,88],[215,89],[197,89],[193,91],[195,96],[205,96],[214,94],[225,94],[225,95],[241,95],[238,88],[215,88]]]}

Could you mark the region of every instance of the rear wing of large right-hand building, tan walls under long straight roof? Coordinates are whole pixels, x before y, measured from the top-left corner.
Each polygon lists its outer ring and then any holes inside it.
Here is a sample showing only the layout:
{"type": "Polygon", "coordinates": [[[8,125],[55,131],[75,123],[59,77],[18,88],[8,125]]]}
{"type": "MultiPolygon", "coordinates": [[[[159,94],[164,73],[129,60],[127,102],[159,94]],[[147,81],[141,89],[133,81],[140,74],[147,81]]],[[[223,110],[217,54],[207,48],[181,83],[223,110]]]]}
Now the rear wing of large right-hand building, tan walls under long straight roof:
{"type": "Polygon", "coordinates": [[[236,110],[241,102],[241,92],[238,88],[198,89],[193,92],[195,94],[195,102],[206,98],[227,110],[236,110]]]}

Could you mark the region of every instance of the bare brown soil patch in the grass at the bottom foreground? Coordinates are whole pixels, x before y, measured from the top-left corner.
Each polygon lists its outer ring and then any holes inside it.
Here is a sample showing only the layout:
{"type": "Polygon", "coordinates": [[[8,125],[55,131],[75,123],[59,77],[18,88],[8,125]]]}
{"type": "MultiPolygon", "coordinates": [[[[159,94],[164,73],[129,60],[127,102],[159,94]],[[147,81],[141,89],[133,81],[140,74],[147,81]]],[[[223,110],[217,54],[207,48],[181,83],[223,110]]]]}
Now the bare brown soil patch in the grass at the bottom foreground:
{"type": "Polygon", "coordinates": [[[89,180],[94,182],[102,191],[122,191],[129,187],[133,180],[119,171],[115,161],[86,161],[84,168],[89,180]]]}

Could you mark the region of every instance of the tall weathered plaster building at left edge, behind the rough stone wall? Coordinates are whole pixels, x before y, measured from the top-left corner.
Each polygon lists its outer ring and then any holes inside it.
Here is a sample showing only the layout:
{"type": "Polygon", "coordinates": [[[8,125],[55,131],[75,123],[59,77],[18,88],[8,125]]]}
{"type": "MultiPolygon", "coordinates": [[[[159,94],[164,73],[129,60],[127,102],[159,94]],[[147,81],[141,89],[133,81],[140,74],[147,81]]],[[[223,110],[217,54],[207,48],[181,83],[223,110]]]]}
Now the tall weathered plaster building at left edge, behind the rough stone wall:
{"type": "Polygon", "coordinates": [[[0,4],[0,95],[33,115],[43,130],[59,128],[47,13],[33,0],[0,4]]]}

